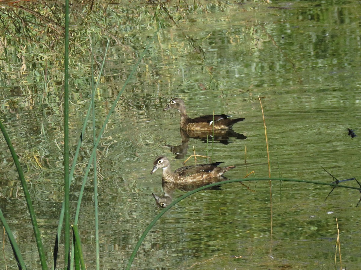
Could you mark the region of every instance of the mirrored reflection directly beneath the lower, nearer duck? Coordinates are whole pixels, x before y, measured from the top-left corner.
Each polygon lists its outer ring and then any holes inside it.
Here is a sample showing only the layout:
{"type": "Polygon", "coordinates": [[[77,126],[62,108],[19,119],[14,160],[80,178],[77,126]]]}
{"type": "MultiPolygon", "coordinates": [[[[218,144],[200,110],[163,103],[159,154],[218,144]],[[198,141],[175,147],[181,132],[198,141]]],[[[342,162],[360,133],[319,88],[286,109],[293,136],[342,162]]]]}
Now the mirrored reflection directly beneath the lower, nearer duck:
{"type": "MultiPolygon", "coordinates": [[[[212,184],[212,183],[216,183],[216,182],[220,182],[220,181],[224,181],[227,180],[227,178],[225,177],[215,177],[215,178],[210,178],[207,179],[206,181],[202,181],[202,182],[197,182],[196,184],[178,184],[178,183],[170,183],[170,182],[164,182],[162,183],[162,188],[163,188],[163,192],[164,195],[162,197],[158,197],[156,194],[152,193],[154,199],[156,200],[156,204],[159,207],[165,208],[167,207],[173,199],[173,192],[175,189],[179,189],[179,190],[183,190],[183,191],[191,191],[197,188],[200,188],[201,186],[205,186],[208,184],[212,184]]],[[[221,190],[220,186],[212,186],[209,189],[206,190],[221,190]]]]}

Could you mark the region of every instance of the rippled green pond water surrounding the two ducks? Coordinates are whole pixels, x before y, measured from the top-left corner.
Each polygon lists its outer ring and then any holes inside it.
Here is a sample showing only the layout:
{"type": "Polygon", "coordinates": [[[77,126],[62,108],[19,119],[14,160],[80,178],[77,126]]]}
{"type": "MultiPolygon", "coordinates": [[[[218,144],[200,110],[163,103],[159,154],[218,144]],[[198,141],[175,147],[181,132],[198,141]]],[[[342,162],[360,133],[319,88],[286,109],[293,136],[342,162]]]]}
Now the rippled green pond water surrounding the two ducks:
{"type": "MultiPolygon", "coordinates": [[[[229,179],[241,179],[252,171],[257,177],[268,176],[259,99],[273,177],[334,181],[321,166],[339,180],[360,177],[360,136],[351,138],[347,129],[360,132],[361,5],[241,2],[206,1],[193,6],[191,1],[189,6],[179,4],[178,10],[167,3],[177,26],[160,13],[166,25],[121,96],[98,147],[101,269],[125,268],[140,235],[161,211],[152,197],[163,194],[161,171],[150,175],[156,156],[167,156],[175,170],[194,149],[196,154],[212,156],[213,162],[235,165],[225,174],[229,179]],[[190,117],[213,111],[244,117],[233,130],[247,139],[231,137],[227,143],[212,145],[187,138],[187,153],[176,159],[165,144],[182,143],[180,116],[175,110],[163,112],[173,97],[184,100],[190,117]]],[[[1,16],[12,8],[4,10],[1,16]]],[[[99,23],[113,31],[96,93],[98,130],[157,28],[155,10],[156,4],[138,3],[134,9],[97,6],[91,14],[94,18],[107,14],[108,19],[99,23]],[[131,15],[130,10],[139,13],[131,15]]],[[[73,12],[82,11],[74,6],[73,12]]],[[[99,32],[92,27],[87,31],[99,32]]],[[[89,32],[84,30],[83,36],[77,32],[72,40],[86,49],[71,50],[71,153],[91,94],[88,45],[82,43],[89,43],[89,32]]],[[[56,42],[61,48],[61,41],[56,42]]],[[[25,170],[50,260],[63,199],[62,61],[55,53],[37,51],[40,43],[29,42],[19,50],[8,35],[1,44],[0,117],[25,170]]],[[[104,42],[95,44],[98,62],[104,50],[104,42]]],[[[27,266],[39,269],[21,185],[5,141],[0,141],[1,210],[27,266]]],[[[74,209],[91,145],[89,127],[71,186],[74,209]]],[[[194,160],[187,162],[191,164],[194,160]]],[[[334,269],[338,227],[342,267],[359,267],[357,190],[336,188],[327,197],[330,186],[274,181],[271,234],[269,182],[243,184],[205,190],[176,204],[145,238],[133,269],[334,269]]],[[[358,186],[355,181],[343,184],[358,186]]],[[[92,181],[86,185],[79,219],[88,269],[95,265],[92,185],[92,181]]],[[[176,189],[173,197],[184,193],[176,189]]],[[[16,267],[11,247],[5,244],[6,263],[16,267]]],[[[0,269],[5,269],[4,262],[1,256],[0,269]]]]}

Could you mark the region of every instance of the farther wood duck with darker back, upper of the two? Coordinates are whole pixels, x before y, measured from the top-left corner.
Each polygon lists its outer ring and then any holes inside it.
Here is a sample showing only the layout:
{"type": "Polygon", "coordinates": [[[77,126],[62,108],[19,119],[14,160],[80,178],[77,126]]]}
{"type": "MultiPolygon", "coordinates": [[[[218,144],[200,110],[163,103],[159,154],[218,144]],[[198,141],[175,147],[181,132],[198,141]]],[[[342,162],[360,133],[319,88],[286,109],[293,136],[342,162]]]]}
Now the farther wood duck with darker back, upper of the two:
{"type": "Polygon", "coordinates": [[[200,116],[196,118],[189,118],[186,114],[186,106],[184,105],[184,102],[180,98],[174,98],[171,99],[168,103],[167,107],[163,110],[169,110],[169,109],[178,109],[179,113],[181,113],[181,122],[179,125],[184,130],[208,130],[211,131],[217,130],[217,129],[229,129],[231,128],[235,123],[243,121],[244,118],[236,118],[231,119],[230,116],[226,114],[215,114],[214,116],[211,115],[205,115],[200,116]],[[214,119],[214,122],[213,122],[214,119]]]}

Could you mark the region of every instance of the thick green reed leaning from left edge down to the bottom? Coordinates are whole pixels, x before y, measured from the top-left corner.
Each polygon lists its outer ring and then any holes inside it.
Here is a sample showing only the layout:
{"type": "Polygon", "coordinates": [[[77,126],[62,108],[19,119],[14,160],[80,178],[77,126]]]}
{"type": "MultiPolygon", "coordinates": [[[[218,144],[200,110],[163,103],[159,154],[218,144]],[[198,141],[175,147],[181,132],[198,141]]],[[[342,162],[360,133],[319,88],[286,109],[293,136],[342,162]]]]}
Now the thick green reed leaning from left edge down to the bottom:
{"type": "MultiPolygon", "coordinates": [[[[32,228],[34,230],[36,245],[38,246],[38,253],[39,253],[40,263],[42,265],[42,269],[48,269],[48,266],[46,264],[46,256],[45,256],[45,252],[44,252],[44,247],[43,247],[43,243],[42,243],[42,239],[41,239],[41,233],[40,233],[40,230],[39,230],[38,222],[36,221],[34,207],[32,206],[30,193],[29,193],[29,190],[27,189],[27,184],[26,184],[26,181],[25,181],[23,170],[21,168],[21,165],[20,165],[19,159],[17,157],[17,154],[15,153],[15,149],[13,147],[13,144],[11,143],[10,138],[9,138],[9,136],[8,136],[6,130],[5,130],[5,127],[3,126],[3,122],[1,122],[1,121],[0,121],[0,129],[1,129],[1,132],[3,132],[5,141],[8,144],[8,148],[10,150],[10,153],[11,153],[12,157],[13,157],[13,160],[14,160],[14,163],[15,163],[15,166],[16,166],[16,170],[18,171],[19,179],[20,179],[20,182],[21,182],[21,185],[22,185],[22,188],[23,188],[23,191],[24,191],[24,195],[25,195],[27,208],[29,210],[29,215],[30,215],[30,219],[31,219],[32,228]]],[[[6,222],[3,223],[4,227],[5,227],[5,224],[6,224],[6,222]]],[[[9,229],[9,227],[8,227],[8,229],[9,229]]],[[[12,235],[10,229],[6,230],[6,233],[8,233],[8,235],[12,235]]],[[[18,256],[18,258],[22,258],[21,255],[18,256]]],[[[25,265],[24,261],[22,262],[22,264],[25,265]]],[[[25,269],[26,269],[26,267],[25,267],[25,269]]]]}

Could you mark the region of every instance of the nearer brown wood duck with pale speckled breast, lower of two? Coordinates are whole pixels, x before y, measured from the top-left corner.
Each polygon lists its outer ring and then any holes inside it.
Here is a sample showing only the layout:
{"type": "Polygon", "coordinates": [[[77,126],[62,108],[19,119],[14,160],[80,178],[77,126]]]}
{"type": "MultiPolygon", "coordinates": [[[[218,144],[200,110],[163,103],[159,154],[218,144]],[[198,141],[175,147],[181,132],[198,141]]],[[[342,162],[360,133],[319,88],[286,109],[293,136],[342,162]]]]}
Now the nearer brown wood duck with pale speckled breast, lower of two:
{"type": "Polygon", "coordinates": [[[164,182],[194,183],[211,178],[222,178],[222,175],[226,171],[236,167],[217,167],[221,163],[222,162],[214,162],[211,164],[191,165],[178,168],[173,172],[170,167],[169,159],[165,156],[158,156],[153,162],[154,167],[151,174],[153,174],[153,172],[155,172],[158,168],[162,168],[162,180],[164,182]]]}

